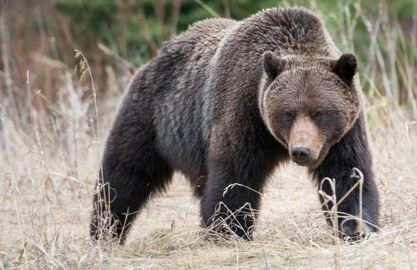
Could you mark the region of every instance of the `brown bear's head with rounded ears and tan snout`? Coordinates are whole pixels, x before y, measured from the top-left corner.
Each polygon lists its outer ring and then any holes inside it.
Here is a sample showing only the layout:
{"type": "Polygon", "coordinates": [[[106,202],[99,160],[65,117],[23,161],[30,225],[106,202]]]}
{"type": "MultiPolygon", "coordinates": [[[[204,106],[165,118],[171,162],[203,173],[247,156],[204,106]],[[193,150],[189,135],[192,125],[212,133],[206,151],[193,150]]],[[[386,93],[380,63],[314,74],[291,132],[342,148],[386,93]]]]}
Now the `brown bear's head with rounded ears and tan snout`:
{"type": "Polygon", "coordinates": [[[263,68],[263,121],[294,162],[318,167],[361,110],[361,90],[354,79],[357,58],[352,53],[338,59],[281,58],[266,51],[263,68]]]}

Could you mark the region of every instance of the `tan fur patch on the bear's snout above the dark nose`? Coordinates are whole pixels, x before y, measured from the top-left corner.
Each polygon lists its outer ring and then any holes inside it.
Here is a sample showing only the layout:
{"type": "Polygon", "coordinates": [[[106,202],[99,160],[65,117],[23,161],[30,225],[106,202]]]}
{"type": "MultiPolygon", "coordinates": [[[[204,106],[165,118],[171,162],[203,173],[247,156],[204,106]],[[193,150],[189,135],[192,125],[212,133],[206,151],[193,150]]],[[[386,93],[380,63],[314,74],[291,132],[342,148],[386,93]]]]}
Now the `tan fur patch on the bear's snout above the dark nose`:
{"type": "Polygon", "coordinates": [[[288,151],[291,153],[293,147],[305,147],[310,149],[310,162],[318,159],[322,149],[320,132],[316,124],[309,117],[296,119],[291,127],[290,140],[288,142],[288,151]]]}

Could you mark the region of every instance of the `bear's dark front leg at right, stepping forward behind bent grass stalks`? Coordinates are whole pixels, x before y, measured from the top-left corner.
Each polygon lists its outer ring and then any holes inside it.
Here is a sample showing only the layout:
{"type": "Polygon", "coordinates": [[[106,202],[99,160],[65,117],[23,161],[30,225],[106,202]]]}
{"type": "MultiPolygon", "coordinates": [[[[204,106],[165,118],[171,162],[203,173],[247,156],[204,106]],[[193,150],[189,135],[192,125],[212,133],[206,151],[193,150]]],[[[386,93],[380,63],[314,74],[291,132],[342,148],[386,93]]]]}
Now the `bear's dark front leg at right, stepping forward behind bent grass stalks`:
{"type": "MultiPolygon", "coordinates": [[[[326,177],[335,179],[336,200],[338,201],[338,230],[343,233],[342,237],[346,235],[358,237],[363,233],[377,231],[379,195],[372,171],[372,155],[368,149],[363,113],[343,138],[329,149],[325,160],[316,169],[311,169],[310,172],[318,181],[318,188],[320,189],[320,183],[322,183],[322,191],[329,196],[333,196],[332,186],[328,180],[322,181],[322,179],[326,177]],[[353,168],[359,169],[363,174],[362,209],[360,209],[360,185],[357,185],[348,194],[359,180],[359,178],[353,176],[353,168]],[[345,199],[343,199],[343,196],[345,196],[345,199]],[[360,215],[363,222],[359,222],[360,215]]],[[[325,202],[321,195],[320,201],[325,202]]],[[[330,217],[330,215],[336,209],[332,210],[334,204],[328,201],[323,203],[322,207],[326,211],[327,221],[333,225],[332,219],[334,217],[330,217]]]]}

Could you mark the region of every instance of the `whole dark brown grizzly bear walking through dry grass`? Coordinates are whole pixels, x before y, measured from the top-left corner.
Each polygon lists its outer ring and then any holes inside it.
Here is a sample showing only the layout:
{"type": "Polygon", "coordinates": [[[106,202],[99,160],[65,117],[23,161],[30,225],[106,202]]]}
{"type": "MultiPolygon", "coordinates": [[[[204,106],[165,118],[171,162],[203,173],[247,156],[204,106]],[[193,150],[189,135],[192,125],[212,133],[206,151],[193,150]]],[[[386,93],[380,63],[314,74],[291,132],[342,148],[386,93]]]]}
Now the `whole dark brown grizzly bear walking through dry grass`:
{"type": "MultiPolygon", "coordinates": [[[[337,199],[350,192],[337,205],[343,235],[377,231],[356,69],[357,58],[341,54],[304,8],[193,24],[131,82],[106,142],[91,235],[113,228],[123,241],[140,209],[179,171],[201,200],[203,226],[251,239],[260,193],[290,160],[328,195],[323,178],[335,179],[337,199]],[[363,173],[362,189],[350,190],[353,168],[363,173]]],[[[320,200],[332,224],[334,205],[320,200]]]]}

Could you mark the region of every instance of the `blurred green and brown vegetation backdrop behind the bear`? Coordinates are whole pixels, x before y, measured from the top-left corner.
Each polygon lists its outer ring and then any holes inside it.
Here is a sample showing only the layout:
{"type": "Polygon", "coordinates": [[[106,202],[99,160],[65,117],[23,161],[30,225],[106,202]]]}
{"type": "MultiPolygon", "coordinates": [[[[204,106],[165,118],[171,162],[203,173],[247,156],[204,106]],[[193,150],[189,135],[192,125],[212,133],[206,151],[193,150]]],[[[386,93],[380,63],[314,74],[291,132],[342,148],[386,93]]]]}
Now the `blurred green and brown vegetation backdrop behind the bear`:
{"type": "Polygon", "coordinates": [[[0,99],[22,121],[32,106],[66,99],[63,85],[91,95],[74,71],[83,52],[99,99],[112,99],[163,42],[210,17],[244,19],[263,8],[305,6],[325,22],[342,51],[359,56],[369,99],[417,112],[417,0],[0,0],[0,99]],[[27,80],[29,78],[29,80],[27,80]],[[77,79],[75,79],[77,78],[77,79]],[[7,100],[6,100],[7,99],[7,100]]]}

